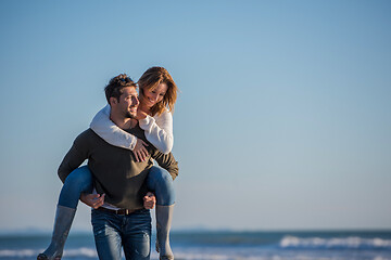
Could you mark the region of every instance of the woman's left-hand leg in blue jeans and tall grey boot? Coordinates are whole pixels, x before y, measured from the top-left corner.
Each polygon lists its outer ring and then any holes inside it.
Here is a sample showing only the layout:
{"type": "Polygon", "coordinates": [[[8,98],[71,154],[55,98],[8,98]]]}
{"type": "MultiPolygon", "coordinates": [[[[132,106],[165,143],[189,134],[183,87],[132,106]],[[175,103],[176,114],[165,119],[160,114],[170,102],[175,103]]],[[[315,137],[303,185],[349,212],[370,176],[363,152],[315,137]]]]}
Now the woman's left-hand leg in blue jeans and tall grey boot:
{"type": "Polygon", "coordinates": [[[51,243],[39,253],[38,260],[61,259],[80,194],[91,191],[92,176],[87,166],[77,168],[66,178],[59,197],[51,243]]]}

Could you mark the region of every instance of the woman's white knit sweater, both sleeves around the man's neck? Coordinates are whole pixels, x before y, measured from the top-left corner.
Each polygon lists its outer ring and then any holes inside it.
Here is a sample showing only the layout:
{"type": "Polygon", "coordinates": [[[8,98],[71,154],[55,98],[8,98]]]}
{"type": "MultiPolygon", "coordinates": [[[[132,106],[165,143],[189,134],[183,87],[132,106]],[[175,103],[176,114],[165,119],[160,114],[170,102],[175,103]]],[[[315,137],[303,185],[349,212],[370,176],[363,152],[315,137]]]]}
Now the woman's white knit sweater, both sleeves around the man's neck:
{"type": "MultiPolygon", "coordinates": [[[[173,134],[173,115],[168,109],[165,109],[161,115],[139,120],[139,126],[144,130],[147,140],[153,144],[159,151],[168,154],[174,145],[173,134]]],[[[108,143],[134,150],[137,138],[130,133],[118,128],[112,120],[110,120],[110,105],[103,107],[93,117],[90,128],[108,143]]]]}

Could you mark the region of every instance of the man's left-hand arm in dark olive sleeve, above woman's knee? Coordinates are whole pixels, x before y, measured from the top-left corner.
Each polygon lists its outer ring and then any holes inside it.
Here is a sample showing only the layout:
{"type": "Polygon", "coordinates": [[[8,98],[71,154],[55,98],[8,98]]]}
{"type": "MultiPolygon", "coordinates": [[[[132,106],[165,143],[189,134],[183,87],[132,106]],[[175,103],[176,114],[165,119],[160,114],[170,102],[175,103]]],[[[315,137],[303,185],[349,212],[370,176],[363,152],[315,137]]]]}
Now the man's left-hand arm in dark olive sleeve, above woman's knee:
{"type": "Polygon", "coordinates": [[[88,158],[87,131],[75,139],[59,167],[58,174],[63,183],[66,177],[88,158]]]}

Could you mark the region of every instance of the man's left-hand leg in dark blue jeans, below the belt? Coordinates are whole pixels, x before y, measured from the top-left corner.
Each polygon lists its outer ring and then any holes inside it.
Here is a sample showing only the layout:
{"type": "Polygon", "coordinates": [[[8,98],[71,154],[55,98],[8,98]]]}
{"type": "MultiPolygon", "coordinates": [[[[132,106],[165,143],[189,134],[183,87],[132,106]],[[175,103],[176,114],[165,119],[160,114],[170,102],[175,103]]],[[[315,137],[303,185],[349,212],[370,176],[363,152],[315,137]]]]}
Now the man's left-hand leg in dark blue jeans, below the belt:
{"type": "Polygon", "coordinates": [[[99,259],[121,260],[121,216],[92,210],[91,222],[99,259]]]}

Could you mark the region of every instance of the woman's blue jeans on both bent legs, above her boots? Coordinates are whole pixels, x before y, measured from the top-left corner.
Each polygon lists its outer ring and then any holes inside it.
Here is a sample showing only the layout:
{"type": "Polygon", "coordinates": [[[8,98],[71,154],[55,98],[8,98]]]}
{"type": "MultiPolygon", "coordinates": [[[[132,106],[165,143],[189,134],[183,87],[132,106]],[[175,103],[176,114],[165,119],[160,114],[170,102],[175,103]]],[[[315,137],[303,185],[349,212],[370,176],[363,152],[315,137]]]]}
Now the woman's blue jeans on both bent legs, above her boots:
{"type": "MultiPolygon", "coordinates": [[[[147,177],[147,187],[156,197],[156,204],[169,206],[175,203],[175,190],[173,178],[161,167],[153,166],[147,177]]],[[[83,166],[72,171],[61,190],[59,205],[77,208],[81,193],[92,192],[92,174],[87,166],[83,166]]]]}

